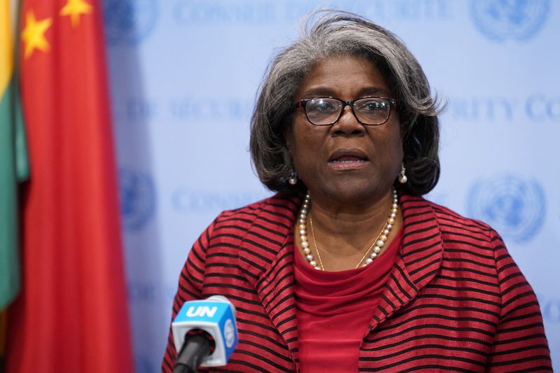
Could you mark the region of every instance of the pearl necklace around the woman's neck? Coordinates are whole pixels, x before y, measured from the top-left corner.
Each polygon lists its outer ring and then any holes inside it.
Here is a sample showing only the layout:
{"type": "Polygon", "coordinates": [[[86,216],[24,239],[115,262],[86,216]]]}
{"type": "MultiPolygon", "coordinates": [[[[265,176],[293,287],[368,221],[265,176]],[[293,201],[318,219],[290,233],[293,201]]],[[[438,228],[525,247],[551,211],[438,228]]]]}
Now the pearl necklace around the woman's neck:
{"type": "MultiPolygon", "coordinates": [[[[313,220],[311,219],[311,216],[309,216],[309,225],[311,225],[311,234],[313,237],[313,243],[315,245],[315,251],[317,252],[317,258],[319,260],[318,263],[313,257],[313,254],[311,254],[311,248],[309,248],[309,239],[307,239],[307,213],[309,213],[310,203],[311,203],[311,195],[309,195],[309,192],[307,192],[307,194],[303,199],[302,207],[300,209],[300,216],[297,219],[297,223],[298,223],[297,227],[299,228],[300,240],[302,242],[305,259],[307,260],[307,262],[309,262],[309,265],[311,265],[315,269],[324,271],[325,268],[323,267],[323,262],[321,261],[321,254],[319,253],[317,241],[315,240],[315,232],[313,230],[313,220]]],[[[375,258],[377,258],[377,255],[379,255],[379,253],[381,252],[381,248],[385,246],[385,243],[388,239],[388,235],[391,232],[391,229],[393,229],[393,225],[395,224],[395,219],[397,217],[397,211],[398,211],[398,195],[397,195],[397,191],[393,187],[393,205],[391,206],[391,210],[389,211],[387,221],[383,226],[383,228],[381,229],[381,232],[379,232],[379,234],[377,235],[377,239],[375,239],[372,242],[371,246],[367,249],[367,251],[360,259],[360,262],[358,262],[358,265],[356,265],[355,268],[360,267],[362,262],[363,262],[362,267],[365,267],[366,265],[369,265],[371,262],[373,262],[375,258]]]]}

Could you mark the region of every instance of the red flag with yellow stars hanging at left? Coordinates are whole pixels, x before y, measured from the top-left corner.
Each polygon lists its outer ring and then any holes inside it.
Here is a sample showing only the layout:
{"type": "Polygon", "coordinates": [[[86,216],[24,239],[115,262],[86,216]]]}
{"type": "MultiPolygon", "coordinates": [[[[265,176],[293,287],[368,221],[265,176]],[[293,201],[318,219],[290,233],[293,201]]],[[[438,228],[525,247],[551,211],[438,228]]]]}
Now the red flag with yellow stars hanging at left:
{"type": "Polygon", "coordinates": [[[26,0],[20,23],[31,178],[6,371],[132,372],[102,6],[26,0]]]}

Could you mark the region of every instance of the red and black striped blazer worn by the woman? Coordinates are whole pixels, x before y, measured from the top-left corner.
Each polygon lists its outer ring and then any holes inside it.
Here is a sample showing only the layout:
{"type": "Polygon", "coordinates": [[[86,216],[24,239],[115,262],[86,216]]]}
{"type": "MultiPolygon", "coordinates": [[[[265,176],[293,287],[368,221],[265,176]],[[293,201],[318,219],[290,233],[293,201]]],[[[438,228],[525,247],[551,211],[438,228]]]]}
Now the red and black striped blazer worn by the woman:
{"type": "MultiPolygon", "coordinates": [[[[239,345],[212,372],[298,370],[293,222],[300,203],[278,194],[225,211],[191,249],[173,317],[186,300],[216,294],[237,309],[239,345]]],[[[402,195],[400,205],[402,248],[364,330],[359,371],[552,370],[535,294],[500,236],[421,197],[402,195]]],[[[162,372],[172,372],[175,356],[170,333],[162,372]]]]}

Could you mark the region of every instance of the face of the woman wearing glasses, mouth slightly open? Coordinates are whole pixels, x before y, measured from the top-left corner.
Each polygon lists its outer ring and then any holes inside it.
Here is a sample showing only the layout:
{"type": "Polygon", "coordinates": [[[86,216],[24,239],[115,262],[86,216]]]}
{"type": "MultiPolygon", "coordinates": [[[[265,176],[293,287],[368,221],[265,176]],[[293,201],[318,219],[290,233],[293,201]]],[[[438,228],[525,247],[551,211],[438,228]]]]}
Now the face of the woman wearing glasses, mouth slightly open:
{"type": "MultiPolygon", "coordinates": [[[[361,57],[335,56],[312,69],[295,99],[391,97],[384,76],[361,57]]],[[[315,126],[304,108],[293,113],[286,143],[295,171],[314,200],[374,203],[386,197],[402,162],[400,125],[393,108],[383,125],[361,125],[349,106],[334,125],[315,126]]]]}

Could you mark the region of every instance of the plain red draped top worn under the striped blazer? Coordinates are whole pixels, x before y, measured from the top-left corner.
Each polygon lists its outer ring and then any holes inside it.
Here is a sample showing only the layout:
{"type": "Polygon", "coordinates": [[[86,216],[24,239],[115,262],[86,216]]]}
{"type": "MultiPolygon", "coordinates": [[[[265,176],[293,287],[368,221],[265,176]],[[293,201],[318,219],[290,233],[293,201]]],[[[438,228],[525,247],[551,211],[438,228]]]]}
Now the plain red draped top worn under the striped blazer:
{"type": "Polygon", "coordinates": [[[295,299],[302,373],[358,372],[358,352],[400,248],[402,229],[372,264],[318,271],[295,253],[295,299]]]}

